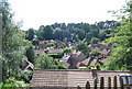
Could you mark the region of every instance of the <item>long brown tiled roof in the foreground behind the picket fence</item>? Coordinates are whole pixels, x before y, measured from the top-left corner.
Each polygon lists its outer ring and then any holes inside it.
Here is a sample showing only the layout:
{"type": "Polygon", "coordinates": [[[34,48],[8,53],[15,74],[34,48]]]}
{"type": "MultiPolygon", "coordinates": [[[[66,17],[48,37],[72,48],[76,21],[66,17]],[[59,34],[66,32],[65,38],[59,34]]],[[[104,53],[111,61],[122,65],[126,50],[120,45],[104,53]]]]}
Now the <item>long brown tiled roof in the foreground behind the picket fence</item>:
{"type": "MultiPolygon", "coordinates": [[[[130,73],[97,70],[98,80],[100,79],[100,77],[105,77],[105,86],[108,85],[108,77],[111,77],[111,85],[113,86],[113,77],[120,74],[130,73]]],[[[33,74],[32,87],[85,87],[87,81],[90,82],[91,87],[94,86],[91,70],[37,69],[34,70],[33,74]]]]}

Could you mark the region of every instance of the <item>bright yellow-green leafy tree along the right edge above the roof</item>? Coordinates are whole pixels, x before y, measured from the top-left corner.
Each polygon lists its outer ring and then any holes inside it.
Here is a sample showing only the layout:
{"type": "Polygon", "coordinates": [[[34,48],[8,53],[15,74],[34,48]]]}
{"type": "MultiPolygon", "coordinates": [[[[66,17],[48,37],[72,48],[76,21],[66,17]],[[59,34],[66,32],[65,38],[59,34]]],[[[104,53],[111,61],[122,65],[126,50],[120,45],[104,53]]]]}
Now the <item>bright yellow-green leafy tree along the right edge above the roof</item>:
{"type": "Polygon", "coordinates": [[[111,70],[131,70],[132,69],[132,1],[130,0],[123,12],[129,13],[122,16],[121,26],[114,36],[108,38],[106,42],[113,44],[112,54],[106,69],[111,70]]]}

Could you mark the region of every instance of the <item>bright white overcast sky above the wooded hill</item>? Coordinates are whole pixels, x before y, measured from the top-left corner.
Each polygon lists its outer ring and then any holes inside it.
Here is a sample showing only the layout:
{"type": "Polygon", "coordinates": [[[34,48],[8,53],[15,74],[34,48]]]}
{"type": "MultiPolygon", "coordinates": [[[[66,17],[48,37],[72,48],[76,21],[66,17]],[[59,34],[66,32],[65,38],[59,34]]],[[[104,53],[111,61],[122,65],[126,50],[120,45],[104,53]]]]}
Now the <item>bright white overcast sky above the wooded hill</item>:
{"type": "Polygon", "coordinates": [[[119,10],[125,0],[8,0],[22,30],[54,23],[95,23],[116,20],[108,11],[119,10]]]}

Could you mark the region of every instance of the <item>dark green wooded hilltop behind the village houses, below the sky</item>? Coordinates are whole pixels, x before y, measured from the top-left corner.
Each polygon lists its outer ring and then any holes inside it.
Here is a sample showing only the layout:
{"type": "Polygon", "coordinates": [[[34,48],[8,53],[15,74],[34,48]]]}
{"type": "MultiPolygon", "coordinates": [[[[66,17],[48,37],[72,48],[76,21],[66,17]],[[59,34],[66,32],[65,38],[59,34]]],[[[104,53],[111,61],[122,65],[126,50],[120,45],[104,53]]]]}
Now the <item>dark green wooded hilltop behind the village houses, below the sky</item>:
{"type": "Polygon", "coordinates": [[[120,26],[117,21],[101,21],[95,24],[88,23],[54,23],[52,25],[41,25],[36,31],[37,38],[42,40],[59,40],[76,43],[85,41],[90,43],[92,37],[98,37],[99,41],[108,38],[107,34],[114,33],[116,27],[120,26]],[[46,34],[47,33],[47,34],[46,34]],[[51,37],[50,37],[51,36],[51,37]],[[48,37],[48,38],[46,38],[48,37]]]}

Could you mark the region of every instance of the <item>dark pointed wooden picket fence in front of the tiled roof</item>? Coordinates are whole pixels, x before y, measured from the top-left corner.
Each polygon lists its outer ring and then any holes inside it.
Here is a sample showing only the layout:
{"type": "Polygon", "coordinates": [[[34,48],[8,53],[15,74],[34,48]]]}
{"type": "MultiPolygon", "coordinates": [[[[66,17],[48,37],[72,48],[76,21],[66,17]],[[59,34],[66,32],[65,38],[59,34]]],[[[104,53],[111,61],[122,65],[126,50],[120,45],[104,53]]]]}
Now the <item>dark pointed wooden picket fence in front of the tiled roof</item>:
{"type": "MultiPolygon", "coordinates": [[[[90,82],[87,81],[86,89],[106,89],[105,88],[105,78],[103,77],[100,78],[99,86],[97,86],[97,84],[98,84],[98,81],[97,81],[97,79],[95,79],[94,80],[94,87],[91,88],[90,82]]],[[[112,84],[111,84],[111,78],[108,77],[108,87],[107,87],[107,89],[118,89],[118,88],[119,89],[132,89],[132,86],[129,85],[128,77],[125,77],[125,85],[124,85],[123,79],[121,77],[117,78],[117,76],[114,76],[112,84]],[[118,84],[117,84],[118,79],[119,79],[120,86],[118,86],[118,84]],[[112,84],[113,84],[113,86],[111,86],[112,84]]],[[[77,89],[81,89],[81,87],[78,86],[77,89]]]]}

